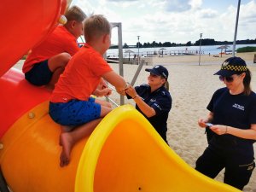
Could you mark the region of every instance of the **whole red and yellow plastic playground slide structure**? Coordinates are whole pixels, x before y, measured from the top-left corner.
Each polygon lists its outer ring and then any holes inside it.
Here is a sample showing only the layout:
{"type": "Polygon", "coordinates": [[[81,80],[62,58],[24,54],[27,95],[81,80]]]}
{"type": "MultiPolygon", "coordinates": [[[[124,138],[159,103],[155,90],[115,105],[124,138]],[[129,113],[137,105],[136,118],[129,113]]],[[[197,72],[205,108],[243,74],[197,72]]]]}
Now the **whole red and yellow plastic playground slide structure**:
{"type": "Polygon", "coordinates": [[[14,192],[239,191],[187,165],[129,105],[109,113],[90,137],[74,146],[70,164],[61,168],[60,128],[48,114],[50,92],[28,84],[23,73],[11,67],[54,29],[67,3],[29,1],[23,7],[21,0],[3,0],[1,4],[3,15],[13,13],[2,17],[6,27],[0,32],[5,45],[0,48],[2,192],[9,191],[6,185],[14,192]],[[14,48],[16,27],[22,38],[14,48]]]}

